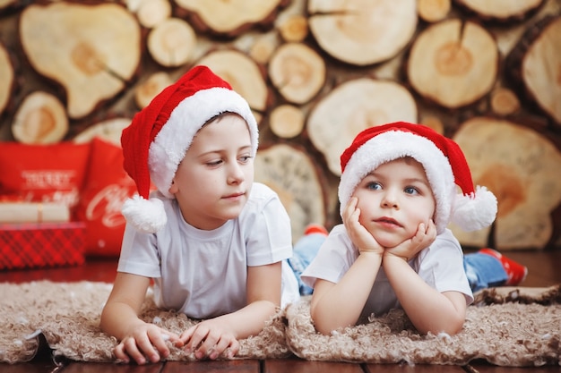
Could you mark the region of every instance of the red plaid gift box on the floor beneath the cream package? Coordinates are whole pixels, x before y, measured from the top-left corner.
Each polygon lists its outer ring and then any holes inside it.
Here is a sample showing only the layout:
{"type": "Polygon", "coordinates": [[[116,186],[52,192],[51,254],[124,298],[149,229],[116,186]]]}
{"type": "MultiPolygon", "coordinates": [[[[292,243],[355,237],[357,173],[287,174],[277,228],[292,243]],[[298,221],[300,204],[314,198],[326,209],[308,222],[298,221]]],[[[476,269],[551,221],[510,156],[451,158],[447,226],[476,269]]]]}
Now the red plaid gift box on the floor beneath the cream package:
{"type": "Polygon", "coordinates": [[[85,224],[0,224],[0,269],[80,265],[85,224]]]}

